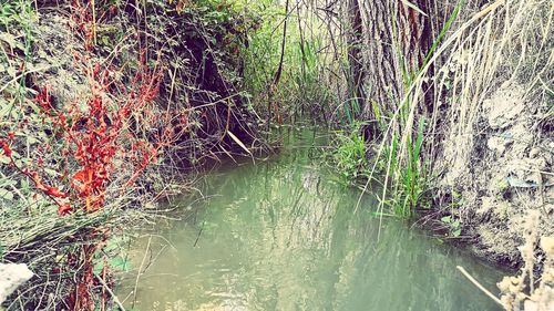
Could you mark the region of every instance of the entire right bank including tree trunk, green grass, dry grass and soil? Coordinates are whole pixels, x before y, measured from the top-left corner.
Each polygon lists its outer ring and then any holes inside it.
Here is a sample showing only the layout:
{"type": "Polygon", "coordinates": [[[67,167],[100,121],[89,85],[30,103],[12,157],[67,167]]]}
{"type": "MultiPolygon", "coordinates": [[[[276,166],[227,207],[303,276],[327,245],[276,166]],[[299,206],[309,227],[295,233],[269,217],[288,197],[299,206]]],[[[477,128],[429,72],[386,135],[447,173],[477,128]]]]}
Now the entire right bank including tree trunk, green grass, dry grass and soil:
{"type": "Polygon", "coordinates": [[[339,169],[379,176],[380,211],[421,218],[484,260],[523,266],[531,215],[541,215],[540,237],[554,235],[554,7],[365,2],[345,13],[359,32],[347,37],[359,65],[343,85],[360,81],[345,101],[355,97],[359,114],[339,141],[339,169]]]}

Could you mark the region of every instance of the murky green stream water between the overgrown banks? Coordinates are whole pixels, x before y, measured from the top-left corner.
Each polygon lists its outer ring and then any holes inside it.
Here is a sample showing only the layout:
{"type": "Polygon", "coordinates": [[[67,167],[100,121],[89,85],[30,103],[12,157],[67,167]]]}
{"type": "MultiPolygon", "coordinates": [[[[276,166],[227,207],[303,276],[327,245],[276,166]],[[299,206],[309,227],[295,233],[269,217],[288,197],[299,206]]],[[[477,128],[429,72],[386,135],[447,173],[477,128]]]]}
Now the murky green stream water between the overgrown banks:
{"type": "Polygon", "coordinates": [[[182,220],[135,241],[124,304],[143,263],[141,311],[501,310],[455,267],[493,292],[500,271],[406,222],[380,224],[370,196],[355,214],[360,193],[310,159],[314,135],[295,132],[270,160],[208,174],[205,199],[182,198],[182,220]]]}

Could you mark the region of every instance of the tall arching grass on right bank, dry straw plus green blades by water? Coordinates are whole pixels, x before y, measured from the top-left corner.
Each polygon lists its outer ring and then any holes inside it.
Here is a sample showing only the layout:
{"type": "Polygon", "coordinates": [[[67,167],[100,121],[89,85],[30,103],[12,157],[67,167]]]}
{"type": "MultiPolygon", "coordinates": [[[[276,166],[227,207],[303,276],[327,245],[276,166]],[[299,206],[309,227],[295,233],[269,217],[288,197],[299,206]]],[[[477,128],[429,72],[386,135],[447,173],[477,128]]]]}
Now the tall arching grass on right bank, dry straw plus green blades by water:
{"type": "MultiPolygon", "coordinates": [[[[545,43],[552,34],[552,3],[495,1],[478,10],[463,7],[459,13],[462,3],[454,7],[423,66],[413,75],[404,73],[403,99],[390,115],[376,155],[387,159],[384,180],[393,184],[390,195],[388,187],[381,194],[381,210],[392,196],[393,211],[412,216],[414,208],[428,204],[422,194],[433,174],[445,166],[465,169],[470,165],[481,104],[501,83],[521,83],[527,96],[538,93],[542,97],[552,85],[552,76],[545,75],[553,64],[552,50],[545,43]],[[441,38],[444,41],[439,43],[441,38]],[[526,46],[533,46],[534,63],[527,60],[531,51],[526,46]],[[420,108],[427,80],[435,86],[434,110],[428,115],[420,108]],[[438,133],[447,136],[441,138],[438,133]],[[449,142],[447,160],[435,162],[444,142],[449,142]]],[[[376,162],[371,174],[377,168],[376,162]]]]}

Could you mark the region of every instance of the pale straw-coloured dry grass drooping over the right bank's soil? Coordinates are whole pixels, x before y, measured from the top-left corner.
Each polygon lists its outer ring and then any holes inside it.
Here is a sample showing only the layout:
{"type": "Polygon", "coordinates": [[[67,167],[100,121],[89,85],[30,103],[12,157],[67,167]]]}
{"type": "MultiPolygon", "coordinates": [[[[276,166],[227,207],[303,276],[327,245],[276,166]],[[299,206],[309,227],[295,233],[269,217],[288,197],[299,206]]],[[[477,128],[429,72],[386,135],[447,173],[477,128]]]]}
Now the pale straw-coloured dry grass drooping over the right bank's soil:
{"type": "MultiPolygon", "coordinates": [[[[443,166],[453,165],[450,170],[464,170],[471,165],[475,131],[480,131],[479,113],[486,96],[502,83],[516,83],[525,89],[524,101],[534,97],[535,101],[544,102],[547,87],[554,81],[552,42],[545,44],[552,35],[554,3],[495,3],[499,4],[497,9],[486,15],[475,14],[481,20],[473,18],[474,25],[454,37],[445,65],[435,77],[438,94],[447,85],[452,90],[448,99],[450,103],[444,103],[449,105],[450,121],[444,124],[444,139],[450,145],[445,146],[445,159],[442,163],[443,166]]],[[[439,126],[438,117],[439,113],[435,112],[433,132],[439,126]]],[[[434,153],[434,149],[430,152],[434,153]]]]}

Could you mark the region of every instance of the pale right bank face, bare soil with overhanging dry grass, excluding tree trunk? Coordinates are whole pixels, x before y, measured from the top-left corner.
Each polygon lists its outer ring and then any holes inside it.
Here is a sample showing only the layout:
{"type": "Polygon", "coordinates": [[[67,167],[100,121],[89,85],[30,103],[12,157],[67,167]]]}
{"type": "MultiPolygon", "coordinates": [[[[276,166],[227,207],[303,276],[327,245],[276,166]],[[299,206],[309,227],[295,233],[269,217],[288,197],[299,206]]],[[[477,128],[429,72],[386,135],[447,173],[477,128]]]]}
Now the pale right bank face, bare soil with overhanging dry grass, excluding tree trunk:
{"type": "MultiPolygon", "coordinates": [[[[422,158],[432,172],[434,222],[456,219],[476,256],[514,269],[524,265],[520,247],[531,227],[554,236],[553,8],[542,1],[462,8],[474,41],[452,42],[441,56],[430,76],[448,95],[435,95],[437,110],[420,116],[433,124],[422,158]]],[[[538,239],[535,256],[544,258],[538,239]]]]}

